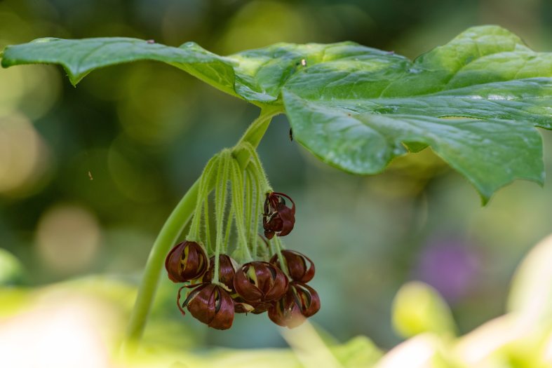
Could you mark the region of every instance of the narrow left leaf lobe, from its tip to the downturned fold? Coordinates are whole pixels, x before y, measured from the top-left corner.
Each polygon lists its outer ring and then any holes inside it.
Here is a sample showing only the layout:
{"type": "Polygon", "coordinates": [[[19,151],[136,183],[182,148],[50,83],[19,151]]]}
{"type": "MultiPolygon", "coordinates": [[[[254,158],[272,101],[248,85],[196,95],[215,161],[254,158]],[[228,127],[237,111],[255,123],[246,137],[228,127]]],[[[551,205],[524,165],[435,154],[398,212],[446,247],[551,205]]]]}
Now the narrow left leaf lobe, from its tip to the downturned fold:
{"type": "Polygon", "coordinates": [[[210,53],[193,42],[176,48],[124,37],[36,39],[29,43],[8,46],[4,50],[2,66],[60,64],[67,71],[71,83],[76,85],[94,69],[138,60],[166,62],[224,92],[236,95],[231,60],[210,53]]]}

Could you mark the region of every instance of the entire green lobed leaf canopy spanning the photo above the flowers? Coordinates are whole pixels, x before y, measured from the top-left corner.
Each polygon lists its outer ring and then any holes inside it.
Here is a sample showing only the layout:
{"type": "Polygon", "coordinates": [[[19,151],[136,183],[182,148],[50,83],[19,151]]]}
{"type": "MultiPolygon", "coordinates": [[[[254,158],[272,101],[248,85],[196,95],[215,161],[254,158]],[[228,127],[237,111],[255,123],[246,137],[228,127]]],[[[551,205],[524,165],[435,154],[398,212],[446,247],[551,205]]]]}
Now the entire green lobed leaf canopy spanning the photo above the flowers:
{"type": "Polygon", "coordinates": [[[552,129],[552,53],[497,26],[468,29],[415,61],[352,42],[278,43],[221,57],[195,43],[103,38],[9,46],[2,65],[61,64],[75,84],[93,69],[137,60],[282,106],[297,142],[348,172],[375,174],[431,146],[484,203],[513,179],[544,180],[534,127],[552,129]]]}

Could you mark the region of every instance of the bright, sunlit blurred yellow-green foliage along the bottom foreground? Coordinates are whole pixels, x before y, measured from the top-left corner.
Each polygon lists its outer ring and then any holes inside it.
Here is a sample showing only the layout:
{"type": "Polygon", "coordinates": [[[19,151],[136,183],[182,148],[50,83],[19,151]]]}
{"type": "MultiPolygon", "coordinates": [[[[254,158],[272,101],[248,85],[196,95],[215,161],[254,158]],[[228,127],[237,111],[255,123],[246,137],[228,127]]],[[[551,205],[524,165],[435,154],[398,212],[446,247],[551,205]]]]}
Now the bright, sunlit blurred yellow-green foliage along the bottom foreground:
{"type": "MultiPolygon", "coordinates": [[[[548,236],[518,267],[508,313],[463,336],[455,336],[450,310],[433,287],[407,283],[393,301],[394,325],[407,340],[386,353],[365,336],[339,343],[310,322],[282,329],[290,348],[203,350],[197,332],[165,313],[150,322],[140,349],[120,354],[123,321],[135,297],[128,282],[88,276],[46,287],[3,286],[0,318],[6,323],[0,326],[0,354],[14,367],[36,361],[43,367],[74,367],[86,357],[95,368],[113,362],[129,368],[546,368],[552,364],[552,269],[544,264],[551,259],[548,236]],[[22,353],[27,344],[33,354],[22,353]]],[[[156,306],[160,311],[166,308],[156,306]]]]}

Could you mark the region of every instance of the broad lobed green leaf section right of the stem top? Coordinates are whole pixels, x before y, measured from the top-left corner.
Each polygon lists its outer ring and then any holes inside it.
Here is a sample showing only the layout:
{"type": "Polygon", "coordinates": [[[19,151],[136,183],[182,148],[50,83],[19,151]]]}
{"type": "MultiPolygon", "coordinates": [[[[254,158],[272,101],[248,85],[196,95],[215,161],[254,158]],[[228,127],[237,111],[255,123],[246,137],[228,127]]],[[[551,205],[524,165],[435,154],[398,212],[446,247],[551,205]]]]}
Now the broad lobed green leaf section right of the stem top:
{"type": "MultiPolygon", "coordinates": [[[[283,88],[294,138],[356,174],[429,145],[485,203],[513,179],[542,183],[552,128],[552,54],[500,27],[468,29],[415,62],[365,48],[299,71],[283,88]]],[[[358,50],[358,46],[354,47],[358,50]]]]}

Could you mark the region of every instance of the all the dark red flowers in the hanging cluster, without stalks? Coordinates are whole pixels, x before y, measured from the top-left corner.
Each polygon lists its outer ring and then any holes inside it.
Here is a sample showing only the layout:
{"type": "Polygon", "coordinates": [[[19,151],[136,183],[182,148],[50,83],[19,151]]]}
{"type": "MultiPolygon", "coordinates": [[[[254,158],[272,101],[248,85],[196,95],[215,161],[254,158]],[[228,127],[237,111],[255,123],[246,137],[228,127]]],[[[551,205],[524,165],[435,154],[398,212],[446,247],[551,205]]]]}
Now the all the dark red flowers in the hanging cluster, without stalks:
{"type": "MultiPolygon", "coordinates": [[[[288,234],[295,223],[295,204],[287,207],[282,196],[285,195],[267,194],[263,214],[267,238],[288,234]]],[[[274,323],[291,328],[318,312],[320,299],[307,285],[314,277],[311,259],[294,250],[282,250],[281,256],[285,265],[274,254],[269,261],[238,266],[229,255],[220,254],[219,282],[215,284],[215,256],[209,259],[199,243],[184,241],[169,252],[165,266],[173,282],[191,282],[178,291],[177,304],[182,314],[187,308],[209,327],[228,329],[234,313],[267,312],[274,323]],[[288,275],[282,271],[284,267],[288,275]],[[180,294],[185,288],[190,291],[181,304],[180,294]]]]}

